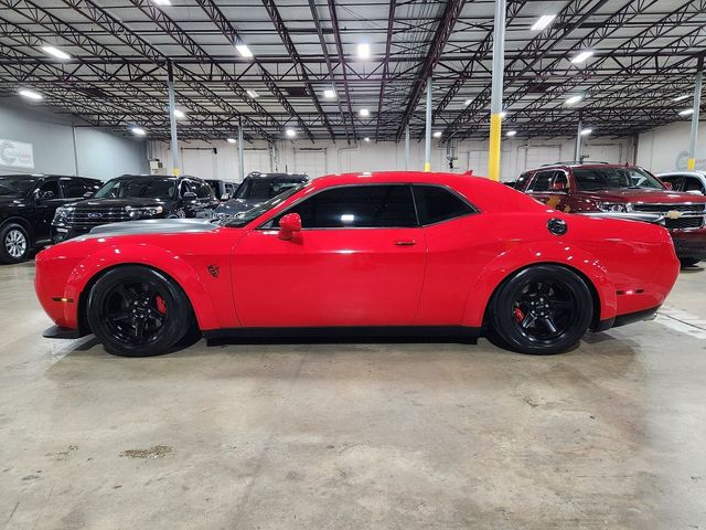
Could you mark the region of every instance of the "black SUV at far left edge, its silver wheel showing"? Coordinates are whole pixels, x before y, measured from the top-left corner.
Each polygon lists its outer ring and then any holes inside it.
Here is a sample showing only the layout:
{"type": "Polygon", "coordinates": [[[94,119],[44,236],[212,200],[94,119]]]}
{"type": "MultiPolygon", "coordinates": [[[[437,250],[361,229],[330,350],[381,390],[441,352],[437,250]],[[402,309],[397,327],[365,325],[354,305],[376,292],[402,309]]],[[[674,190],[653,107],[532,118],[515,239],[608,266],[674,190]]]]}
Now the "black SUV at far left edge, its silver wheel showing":
{"type": "Polygon", "coordinates": [[[54,212],[103,182],[58,174],[0,174],[0,263],[19,263],[50,243],[54,212]]]}

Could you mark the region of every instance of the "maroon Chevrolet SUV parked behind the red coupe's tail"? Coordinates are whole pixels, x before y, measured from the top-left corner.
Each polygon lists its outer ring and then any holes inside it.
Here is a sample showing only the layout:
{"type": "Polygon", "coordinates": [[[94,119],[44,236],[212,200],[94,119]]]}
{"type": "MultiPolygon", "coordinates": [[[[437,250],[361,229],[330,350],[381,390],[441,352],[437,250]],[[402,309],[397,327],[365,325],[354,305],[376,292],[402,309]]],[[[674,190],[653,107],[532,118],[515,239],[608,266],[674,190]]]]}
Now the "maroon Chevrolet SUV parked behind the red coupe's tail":
{"type": "Polygon", "coordinates": [[[671,191],[643,168],[549,165],[523,173],[515,189],[563,212],[656,213],[683,265],[706,258],[706,197],[671,191]]]}

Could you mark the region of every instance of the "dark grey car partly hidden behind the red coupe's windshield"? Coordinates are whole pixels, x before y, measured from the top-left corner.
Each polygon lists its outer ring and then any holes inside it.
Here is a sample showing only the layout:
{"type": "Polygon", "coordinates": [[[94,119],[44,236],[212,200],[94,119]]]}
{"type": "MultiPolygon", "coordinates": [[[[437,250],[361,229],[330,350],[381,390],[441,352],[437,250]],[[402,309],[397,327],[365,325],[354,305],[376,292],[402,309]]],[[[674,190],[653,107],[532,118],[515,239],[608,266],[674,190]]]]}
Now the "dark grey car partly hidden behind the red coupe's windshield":
{"type": "Polygon", "coordinates": [[[240,183],[233,199],[218,206],[216,216],[245,212],[308,180],[309,177],[306,174],[249,173],[240,183]]]}

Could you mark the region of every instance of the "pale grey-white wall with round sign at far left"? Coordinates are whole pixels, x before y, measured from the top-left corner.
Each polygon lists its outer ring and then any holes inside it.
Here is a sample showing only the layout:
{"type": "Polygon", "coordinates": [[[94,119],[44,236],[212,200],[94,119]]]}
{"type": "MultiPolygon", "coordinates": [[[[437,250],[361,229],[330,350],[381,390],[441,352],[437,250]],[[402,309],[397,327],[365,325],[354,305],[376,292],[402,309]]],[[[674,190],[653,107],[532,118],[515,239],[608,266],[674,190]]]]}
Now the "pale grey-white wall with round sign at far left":
{"type": "Polygon", "coordinates": [[[75,127],[68,116],[28,105],[0,106],[0,138],[32,145],[34,168],[0,166],[0,174],[33,172],[110,179],[146,173],[147,142],[89,127],[75,127]]]}

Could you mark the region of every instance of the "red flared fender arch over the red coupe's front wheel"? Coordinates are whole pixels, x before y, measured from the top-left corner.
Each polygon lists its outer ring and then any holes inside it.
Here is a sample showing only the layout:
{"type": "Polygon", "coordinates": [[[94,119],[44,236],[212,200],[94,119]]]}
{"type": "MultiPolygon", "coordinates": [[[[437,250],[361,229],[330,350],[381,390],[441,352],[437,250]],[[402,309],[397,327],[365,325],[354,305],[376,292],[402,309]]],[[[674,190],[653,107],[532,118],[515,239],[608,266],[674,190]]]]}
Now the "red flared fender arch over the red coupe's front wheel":
{"type": "MultiPolygon", "coordinates": [[[[191,300],[199,327],[201,329],[217,328],[220,326],[213,300],[207,294],[203,278],[191,264],[173,251],[160,246],[143,244],[121,244],[100,248],[82,259],[72,271],[66,282],[65,297],[81,299],[86,285],[97,274],[116,265],[146,265],[157,268],[171,276],[191,300]]],[[[66,315],[69,328],[78,327],[77,311],[66,315]]]]}

